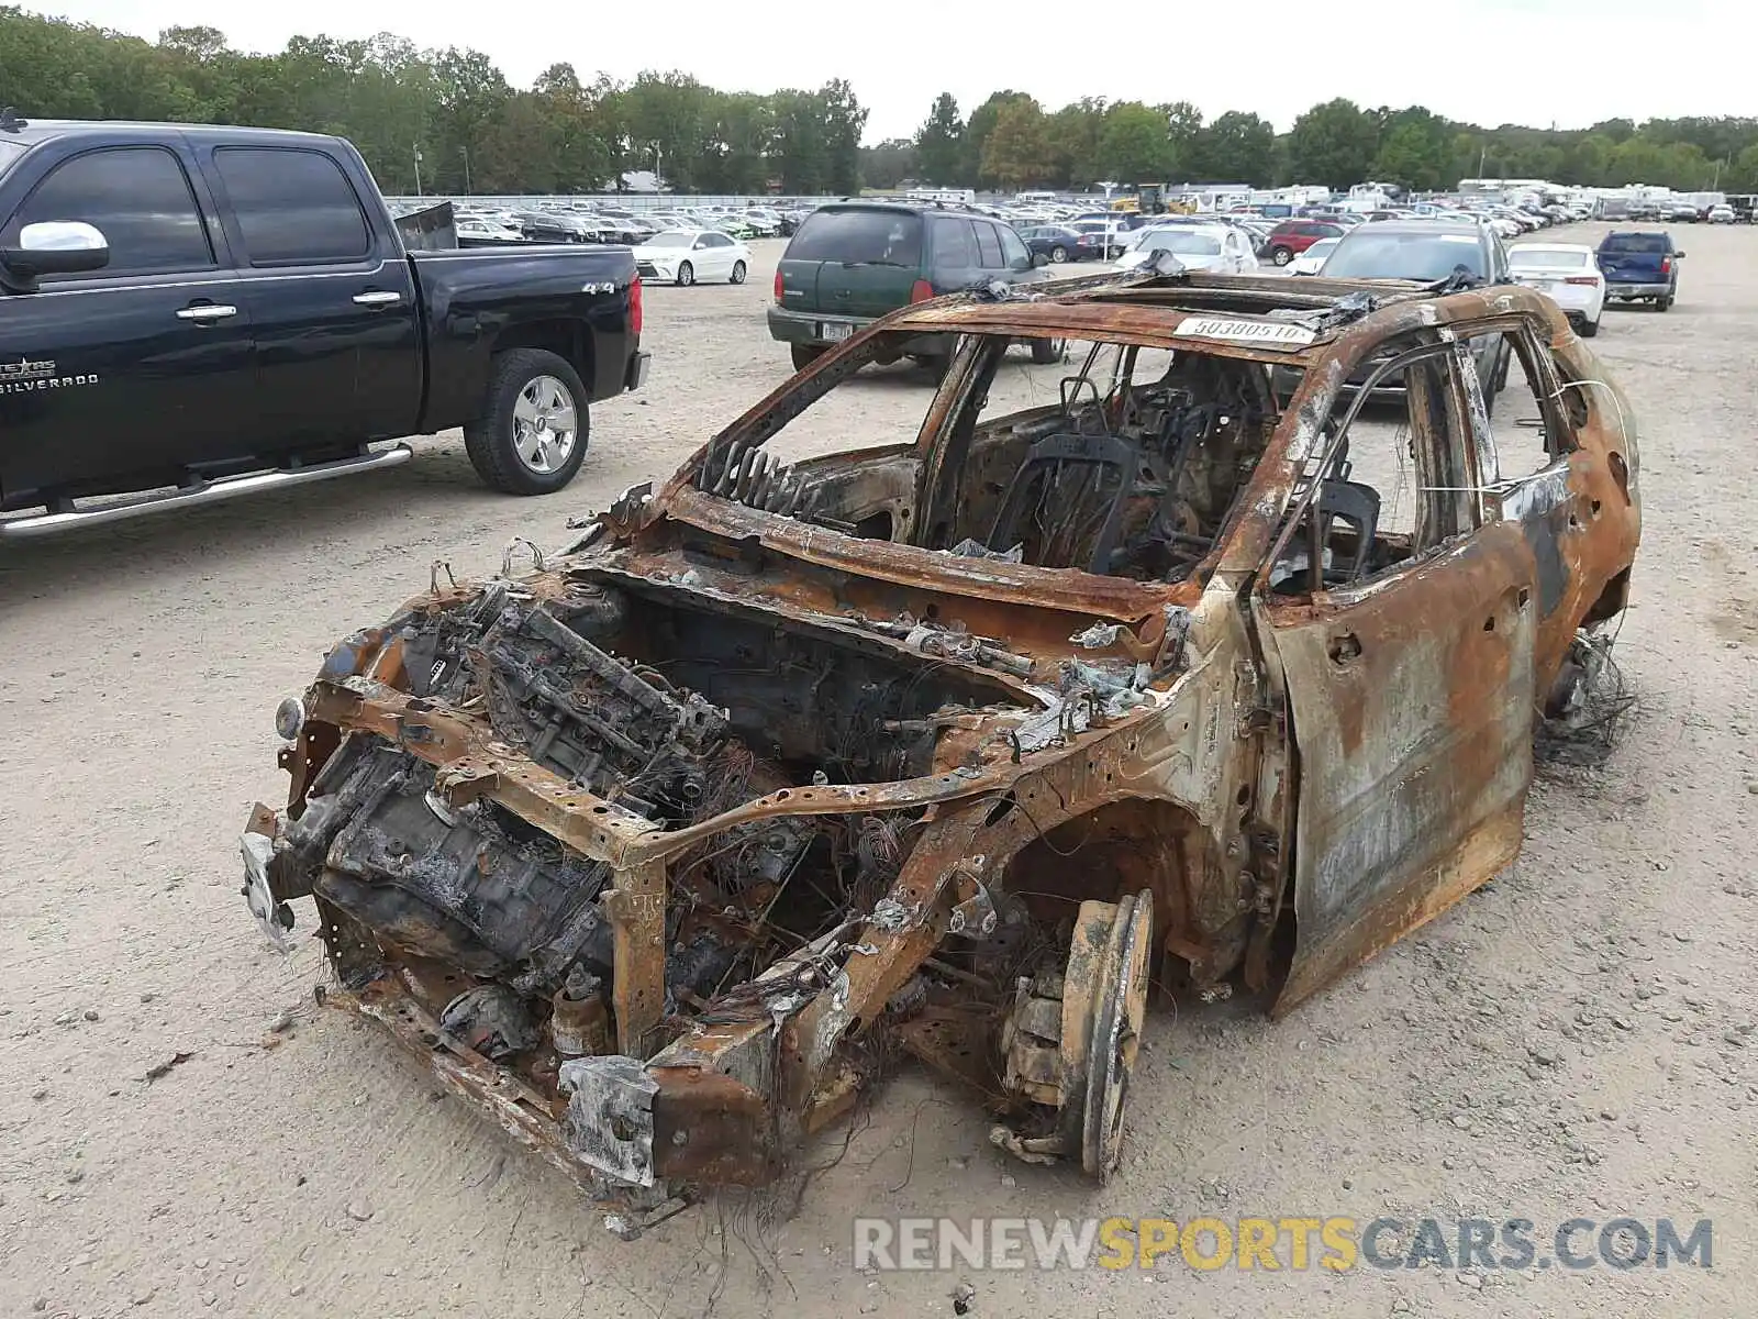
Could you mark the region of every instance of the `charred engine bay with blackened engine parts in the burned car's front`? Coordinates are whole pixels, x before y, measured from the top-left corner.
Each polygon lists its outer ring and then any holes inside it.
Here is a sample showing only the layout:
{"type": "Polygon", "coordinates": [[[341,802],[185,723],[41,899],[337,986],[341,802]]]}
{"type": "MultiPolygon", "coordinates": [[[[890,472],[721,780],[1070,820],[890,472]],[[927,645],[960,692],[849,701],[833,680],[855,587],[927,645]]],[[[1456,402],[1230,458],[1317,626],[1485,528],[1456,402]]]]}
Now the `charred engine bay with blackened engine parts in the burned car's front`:
{"type": "MultiPolygon", "coordinates": [[[[879,642],[865,652],[774,617],[582,582],[541,601],[498,580],[390,631],[410,695],[487,719],[536,765],[665,828],[782,788],[930,774],[942,732],[995,712],[1002,691],[879,642]]],[[[728,987],[872,911],[914,825],[909,813],[781,816],[673,858],[666,1015],[712,1011],[728,987]]],[[[440,964],[478,981],[434,1008],[487,1057],[534,1048],[545,1020],[559,1053],[603,1052],[607,864],[492,800],[447,802],[431,765],[362,733],[316,774],[285,841],[299,888],[329,907],[345,980],[380,958],[440,964]]]]}

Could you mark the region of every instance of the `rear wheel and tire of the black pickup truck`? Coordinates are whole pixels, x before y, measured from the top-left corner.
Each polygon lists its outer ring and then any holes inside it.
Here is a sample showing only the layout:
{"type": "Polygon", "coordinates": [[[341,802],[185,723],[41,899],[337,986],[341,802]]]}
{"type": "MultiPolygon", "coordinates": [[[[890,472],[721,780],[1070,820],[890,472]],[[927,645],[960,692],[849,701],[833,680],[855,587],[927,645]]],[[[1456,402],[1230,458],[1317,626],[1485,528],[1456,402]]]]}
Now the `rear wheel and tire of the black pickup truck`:
{"type": "Polygon", "coordinates": [[[489,364],[482,413],[464,426],[464,448],[489,489],[552,494],[580,471],[589,433],[580,373],[543,348],[512,348],[489,364]]]}

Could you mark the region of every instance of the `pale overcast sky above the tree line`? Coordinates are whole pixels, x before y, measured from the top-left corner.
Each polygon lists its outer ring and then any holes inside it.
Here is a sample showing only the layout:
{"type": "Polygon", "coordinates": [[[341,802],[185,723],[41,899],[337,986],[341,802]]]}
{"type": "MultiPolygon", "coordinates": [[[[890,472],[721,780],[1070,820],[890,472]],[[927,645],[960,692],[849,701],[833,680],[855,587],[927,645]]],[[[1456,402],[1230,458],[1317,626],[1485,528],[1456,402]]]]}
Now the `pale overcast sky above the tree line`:
{"type": "Polygon", "coordinates": [[[1079,97],[1190,100],[1213,118],[1255,111],[1276,128],[1318,100],[1427,106],[1484,125],[1753,114],[1754,7],[1742,0],[1348,0],[1257,4],[640,4],[415,7],[357,0],[65,0],[51,12],[142,37],[209,25],[250,51],[292,35],[475,46],[515,86],[568,60],[582,77],[680,69],[747,91],[846,77],[870,109],[867,141],[902,137],[939,91],[970,113],[990,91],[1055,109],[1079,97]],[[1250,12],[1278,14],[1276,28],[1250,12]],[[1083,18],[1090,30],[1076,32],[1083,18]]]}

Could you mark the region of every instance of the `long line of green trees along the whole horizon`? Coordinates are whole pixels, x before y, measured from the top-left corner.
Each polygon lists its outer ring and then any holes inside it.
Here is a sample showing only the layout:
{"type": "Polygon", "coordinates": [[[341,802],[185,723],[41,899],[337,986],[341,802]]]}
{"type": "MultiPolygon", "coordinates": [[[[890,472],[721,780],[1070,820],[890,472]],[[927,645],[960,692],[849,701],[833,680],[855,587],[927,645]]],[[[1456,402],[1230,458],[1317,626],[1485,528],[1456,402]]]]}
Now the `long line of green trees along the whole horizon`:
{"type": "Polygon", "coordinates": [[[1607,120],[1556,130],[1484,128],[1420,106],[1336,98],[1278,134],[1250,111],[1206,120],[1190,102],[1083,98],[1046,111],[995,91],[963,114],[941,93],[921,127],[863,148],[867,109],[819,88],[721,91],[680,72],[582,79],[570,63],[515,88],[471,49],[295,37],[276,55],[232,49],[214,28],[156,42],[0,7],[0,97],[25,116],[171,120],[350,137],[389,193],[566,193],[656,171],[707,193],[853,193],[902,183],[1090,188],[1167,181],[1377,179],[1420,192],[1463,178],[1544,178],[1758,192],[1758,120],[1607,120]]]}

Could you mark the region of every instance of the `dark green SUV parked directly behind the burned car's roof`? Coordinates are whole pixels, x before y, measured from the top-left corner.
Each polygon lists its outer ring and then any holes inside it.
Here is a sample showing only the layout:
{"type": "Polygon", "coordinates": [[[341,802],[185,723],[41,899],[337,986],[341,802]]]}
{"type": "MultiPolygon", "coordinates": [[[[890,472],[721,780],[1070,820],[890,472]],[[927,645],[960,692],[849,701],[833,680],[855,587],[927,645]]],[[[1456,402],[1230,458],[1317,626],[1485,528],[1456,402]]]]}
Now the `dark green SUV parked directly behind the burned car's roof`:
{"type": "MultiPolygon", "coordinates": [[[[786,343],[795,369],[803,369],[888,311],[995,280],[1041,280],[1041,262],[1009,225],[983,215],[888,202],[821,206],[775,267],[770,338],[786,343]]],[[[1053,346],[1034,343],[1034,361],[1051,361],[1053,346]]],[[[905,353],[932,369],[953,355],[953,338],[921,336],[905,353]]]]}

